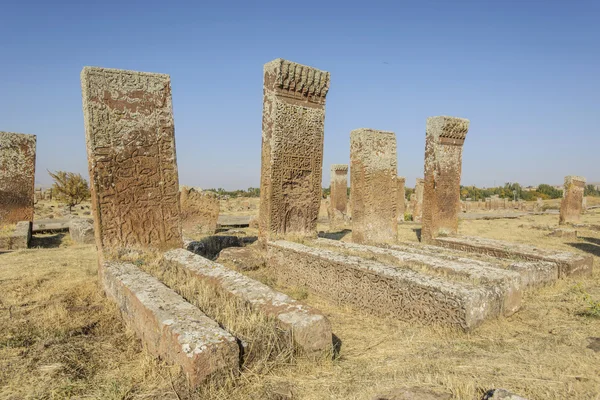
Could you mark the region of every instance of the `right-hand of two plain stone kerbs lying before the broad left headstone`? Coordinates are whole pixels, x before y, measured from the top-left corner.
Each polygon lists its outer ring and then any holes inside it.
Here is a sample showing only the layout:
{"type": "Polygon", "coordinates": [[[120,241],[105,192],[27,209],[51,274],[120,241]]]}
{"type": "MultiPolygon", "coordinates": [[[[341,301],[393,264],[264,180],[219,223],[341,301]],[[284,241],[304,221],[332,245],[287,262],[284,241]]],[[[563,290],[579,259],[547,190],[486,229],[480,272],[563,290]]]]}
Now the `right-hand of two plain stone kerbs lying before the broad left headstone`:
{"type": "Polygon", "coordinates": [[[280,328],[305,354],[317,355],[331,350],[331,324],[314,308],[184,249],[171,250],[163,259],[183,269],[188,280],[211,285],[225,298],[240,299],[253,309],[276,318],[280,328]]]}

